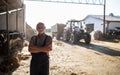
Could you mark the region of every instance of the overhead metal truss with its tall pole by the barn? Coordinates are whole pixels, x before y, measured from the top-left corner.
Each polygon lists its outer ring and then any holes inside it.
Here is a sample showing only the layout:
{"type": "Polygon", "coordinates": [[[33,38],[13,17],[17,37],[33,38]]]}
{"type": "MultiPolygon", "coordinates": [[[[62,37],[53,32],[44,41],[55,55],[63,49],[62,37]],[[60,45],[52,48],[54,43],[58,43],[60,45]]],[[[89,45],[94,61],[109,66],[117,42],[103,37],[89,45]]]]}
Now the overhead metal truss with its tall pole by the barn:
{"type": "Polygon", "coordinates": [[[103,35],[105,35],[105,12],[106,0],[26,0],[26,1],[41,1],[41,2],[55,2],[55,3],[71,3],[71,4],[87,4],[87,5],[101,5],[103,6],[103,35]]]}

